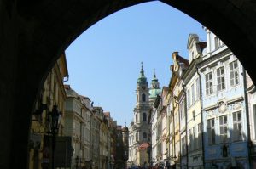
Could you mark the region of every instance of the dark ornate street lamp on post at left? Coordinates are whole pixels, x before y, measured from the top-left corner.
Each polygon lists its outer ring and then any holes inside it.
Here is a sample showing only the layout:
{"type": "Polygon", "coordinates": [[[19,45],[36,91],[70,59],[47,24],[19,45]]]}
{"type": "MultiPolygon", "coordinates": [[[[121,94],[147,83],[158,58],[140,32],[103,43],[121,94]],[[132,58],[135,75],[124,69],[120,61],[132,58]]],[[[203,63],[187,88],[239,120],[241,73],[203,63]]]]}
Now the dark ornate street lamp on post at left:
{"type": "Polygon", "coordinates": [[[58,106],[55,104],[52,111],[48,114],[49,133],[52,135],[52,169],[55,168],[55,143],[56,134],[58,134],[59,125],[61,122],[61,112],[58,110],[58,106]]]}

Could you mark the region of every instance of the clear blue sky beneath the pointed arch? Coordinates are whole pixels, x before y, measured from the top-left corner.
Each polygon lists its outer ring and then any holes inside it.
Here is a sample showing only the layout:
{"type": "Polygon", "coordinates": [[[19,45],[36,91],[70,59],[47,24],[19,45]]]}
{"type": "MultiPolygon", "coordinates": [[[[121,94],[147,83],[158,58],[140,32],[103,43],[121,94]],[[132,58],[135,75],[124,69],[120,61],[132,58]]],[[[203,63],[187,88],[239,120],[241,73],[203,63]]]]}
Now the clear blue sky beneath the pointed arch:
{"type": "Polygon", "coordinates": [[[92,25],[66,50],[71,87],[130,126],[143,62],[148,85],[154,75],[168,86],[172,52],[188,59],[189,33],[206,41],[202,25],[160,2],[125,8],[92,25]]]}

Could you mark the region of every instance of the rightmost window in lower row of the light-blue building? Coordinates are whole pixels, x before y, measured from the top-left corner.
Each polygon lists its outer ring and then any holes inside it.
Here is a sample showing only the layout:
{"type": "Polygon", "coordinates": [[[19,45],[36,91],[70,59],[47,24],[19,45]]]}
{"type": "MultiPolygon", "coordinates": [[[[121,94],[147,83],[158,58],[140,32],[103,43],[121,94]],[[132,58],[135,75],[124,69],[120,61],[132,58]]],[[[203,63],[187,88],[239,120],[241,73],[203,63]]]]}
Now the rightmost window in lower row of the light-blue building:
{"type": "Polygon", "coordinates": [[[233,113],[233,140],[242,140],[241,111],[233,113]]]}

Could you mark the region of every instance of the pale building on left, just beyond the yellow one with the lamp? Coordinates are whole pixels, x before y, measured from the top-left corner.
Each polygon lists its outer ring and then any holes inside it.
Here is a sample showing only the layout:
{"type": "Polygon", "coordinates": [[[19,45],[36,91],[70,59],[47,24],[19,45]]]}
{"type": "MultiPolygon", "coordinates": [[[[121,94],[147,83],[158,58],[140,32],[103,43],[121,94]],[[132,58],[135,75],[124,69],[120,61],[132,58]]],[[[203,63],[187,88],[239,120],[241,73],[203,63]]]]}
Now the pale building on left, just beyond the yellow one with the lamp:
{"type": "Polygon", "coordinates": [[[76,93],[66,86],[66,118],[64,132],[72,137],[73,167],[75,158],[79,157],[79,166],[85,166],[90,161],[90,99],[76,93]]]}

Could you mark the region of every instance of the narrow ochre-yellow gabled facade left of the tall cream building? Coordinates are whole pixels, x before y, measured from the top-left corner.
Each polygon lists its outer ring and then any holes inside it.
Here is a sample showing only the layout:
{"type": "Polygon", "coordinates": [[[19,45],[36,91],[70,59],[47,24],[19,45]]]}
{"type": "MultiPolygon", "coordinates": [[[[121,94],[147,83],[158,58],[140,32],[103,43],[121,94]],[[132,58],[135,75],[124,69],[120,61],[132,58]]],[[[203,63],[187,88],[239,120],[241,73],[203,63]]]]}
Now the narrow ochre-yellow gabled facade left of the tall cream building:
{"type": "MultiPolygon", "coordinates": [[[[171,164],[175,164],[176,168],[181,168],[182,162],[183,165],[186,165],[186,152],[185,149],[183,149],[183,155],[181,155],[181,136],[183,138],[183,144],[184,138],[186,138],[186,126],[184,122],[181,124],[181,119],[183,120],[185,116],[182,116],[180,113],[183,110],[183,107],[180,107],[181,104],[179,104],[179,101],[183,100],[184,94],[183,94],[183,82],[182,82],[182,76],[183,72],[187,69],[189,65],[189,60],[184,59],[182,56],[180,56],[177,52],[172,53],[172,61],[173,65],[171,66],[172,71],[172,77],[169,83],[169,89],[171,97],[172,97],[172,137],[173,137],[173,143],[172,143],[172,149],[173,149],[173,156],[170,159],[171,164]],[[183,127],[181,130],[181,127],[183,127]]],[[[170,156],[169,156],[170,157],[170,156]]]]}

